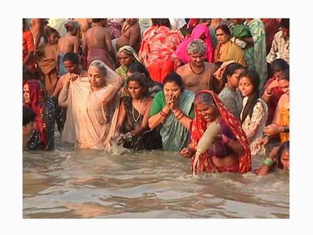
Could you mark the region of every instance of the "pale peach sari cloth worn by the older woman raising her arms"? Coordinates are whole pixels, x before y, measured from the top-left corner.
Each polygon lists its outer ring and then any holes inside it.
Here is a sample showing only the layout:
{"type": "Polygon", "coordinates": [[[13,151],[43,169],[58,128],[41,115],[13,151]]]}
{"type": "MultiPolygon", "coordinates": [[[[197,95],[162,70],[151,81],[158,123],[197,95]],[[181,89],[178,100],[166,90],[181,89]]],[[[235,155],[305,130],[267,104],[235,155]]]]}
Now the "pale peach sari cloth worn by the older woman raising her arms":
{"type": "Polygon", "coordinates": [[[102,96],[113,87],[118,76],[109,66],[105,67],[105,86],[101,90],[91,90],[88,77],[81,77],[70,83],[62,139],[74,143],[75,147],[106,151],[111,149],[110,140],[118,121],[120,92],[112,104],[102,106],[102,96]]]}

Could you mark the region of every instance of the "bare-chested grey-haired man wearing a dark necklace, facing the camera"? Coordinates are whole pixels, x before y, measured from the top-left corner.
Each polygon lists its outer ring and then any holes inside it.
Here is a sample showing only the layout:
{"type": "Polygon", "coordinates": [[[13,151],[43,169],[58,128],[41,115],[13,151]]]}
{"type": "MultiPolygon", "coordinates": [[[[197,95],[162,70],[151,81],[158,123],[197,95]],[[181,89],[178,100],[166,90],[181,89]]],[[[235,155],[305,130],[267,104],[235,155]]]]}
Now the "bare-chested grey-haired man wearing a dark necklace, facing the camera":
{"type": "Polygon", "coordinates": [[[177,68],[177,74],[182,76],[184,88],[193,92],[212,90],[213,74],[216,71],[214,63],[204,61],[207,45],[201,40],[193,40],[188,45],[190,62],[177,68]]]}

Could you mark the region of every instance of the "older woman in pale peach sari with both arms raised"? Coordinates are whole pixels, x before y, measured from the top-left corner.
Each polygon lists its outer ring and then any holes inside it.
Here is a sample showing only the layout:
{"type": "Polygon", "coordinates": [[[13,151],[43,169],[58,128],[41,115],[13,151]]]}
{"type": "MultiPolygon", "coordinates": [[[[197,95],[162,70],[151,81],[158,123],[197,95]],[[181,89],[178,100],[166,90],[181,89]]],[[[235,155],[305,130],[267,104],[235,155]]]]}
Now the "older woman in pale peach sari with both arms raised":
{"type": "Polygon", "coordinates": [[[123,85],[124,79],[102,60],[90,63],[88,77],[65,82],[58,97],[59,106],[67,107],[63,141],[80,148],[109,150],[123,85]]]}

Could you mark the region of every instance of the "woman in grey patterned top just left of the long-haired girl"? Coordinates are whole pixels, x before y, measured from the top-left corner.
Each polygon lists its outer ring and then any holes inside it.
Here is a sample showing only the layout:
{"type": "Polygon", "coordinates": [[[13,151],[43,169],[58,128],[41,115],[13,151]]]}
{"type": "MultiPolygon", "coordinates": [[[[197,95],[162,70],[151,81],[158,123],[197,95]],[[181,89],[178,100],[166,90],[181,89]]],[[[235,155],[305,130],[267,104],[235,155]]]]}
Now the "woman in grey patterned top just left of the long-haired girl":
{"type": "Polygon", "coordinates": [[[218,94],[218,98],[223,102],[225,107],[240,118],[242,110],[242,97],[239,90],[239,77],[245,71],[245,68],[239,63],[231,63],[227,65],[223,74],[223,82],[226,83],[225,88],[218,94]]]}

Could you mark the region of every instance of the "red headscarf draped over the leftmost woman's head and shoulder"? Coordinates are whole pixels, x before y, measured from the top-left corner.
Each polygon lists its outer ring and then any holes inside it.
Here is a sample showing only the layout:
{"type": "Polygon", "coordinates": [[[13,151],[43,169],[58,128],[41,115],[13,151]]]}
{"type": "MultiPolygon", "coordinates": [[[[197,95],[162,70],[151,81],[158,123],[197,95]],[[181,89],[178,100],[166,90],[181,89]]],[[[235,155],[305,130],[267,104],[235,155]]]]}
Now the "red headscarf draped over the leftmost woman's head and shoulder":
{"type": "Polygon", "coordinates": [[[24,103],[23,105],[33,109],[35,113],[35,130],[38,131],[40,140],[47,145],[47,124],[45,123],[45,102],[47,95],[45,88],[38,80],[26,81],[29,84],[29,97],[31,103],[24,103]]]}

